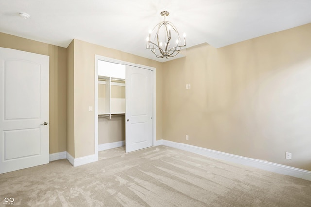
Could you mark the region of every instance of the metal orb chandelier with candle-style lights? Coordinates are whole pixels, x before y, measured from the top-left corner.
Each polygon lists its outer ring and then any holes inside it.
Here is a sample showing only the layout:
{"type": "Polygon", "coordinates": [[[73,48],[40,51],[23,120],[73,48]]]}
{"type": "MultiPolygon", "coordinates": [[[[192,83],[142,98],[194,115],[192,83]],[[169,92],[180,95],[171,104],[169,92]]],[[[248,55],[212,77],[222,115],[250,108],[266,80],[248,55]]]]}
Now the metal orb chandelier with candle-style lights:
{"type": "Polygon", "coordinates": [[[169,14],[167,11],[161,12],[161,16],[164,16],[164,21],[155,25],[154,29],[149,31],[149,37],[147,37],[146,49],[150,49],[157,58],[174,57],[179,53],[181,47],[186,46],[185,33],[184,44],[182,45],[176,27],[171,22],[165,20],[165,16],[169,14]]]}

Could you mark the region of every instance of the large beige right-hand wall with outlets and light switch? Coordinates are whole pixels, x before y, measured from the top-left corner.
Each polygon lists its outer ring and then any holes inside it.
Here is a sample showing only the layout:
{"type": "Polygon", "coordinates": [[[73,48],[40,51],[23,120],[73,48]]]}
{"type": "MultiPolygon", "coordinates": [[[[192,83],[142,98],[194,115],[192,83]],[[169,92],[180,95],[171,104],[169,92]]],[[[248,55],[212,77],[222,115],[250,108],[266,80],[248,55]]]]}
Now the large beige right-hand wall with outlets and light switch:
{"type": "Polygon", "coordinates": [[[311,170],[310,37],[307,24],[166,62],[163,138],[311,170]]]}

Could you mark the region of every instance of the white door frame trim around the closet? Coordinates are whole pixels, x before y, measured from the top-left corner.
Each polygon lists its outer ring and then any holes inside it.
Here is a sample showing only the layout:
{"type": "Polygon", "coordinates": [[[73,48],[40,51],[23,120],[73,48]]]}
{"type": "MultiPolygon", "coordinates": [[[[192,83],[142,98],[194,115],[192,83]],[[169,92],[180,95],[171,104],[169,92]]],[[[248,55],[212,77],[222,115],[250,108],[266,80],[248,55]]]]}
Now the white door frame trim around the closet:
{"type": "MultiPolygon", "coordinates": [[[[101,55],[95,55],[95,77],[94,77],[94,82],[95,82],[95,98],[94,98],[94,121],[95,121],[95,154],[97,155],[98,157],[98,61],[101,60],[101,61],[107,61],[107,62],[111,62],[111,63],[116,63],[116,64],[123,64],[123,65],[131,65],[131,66],[134,66],[134,67],[139,67],[141,69],[148,69],[148,70],[151,70],[153,72],[153,86],[152,86],[152,92],[153,92],[153,109],[152,109],[152,116],[153,116],[153,119],[152,119],[152,146],[155,146],[155,138],[156,138],[156,100],[155,100],[155,67],[149,67],[149,66],[146,66],[146,65],[141,65],[141,64],[135,64],[135,63],[130,63],[130,62],[126,62],[126,61],[121,61],[121,60],[118,60],[118,59],[113,59],[113,58],[108,58],[108,57],[104,57],[104,56],[101,56],[101,55]]],[[[126,99],[126,97],[125,97],[126,99]]],[[[125,111],[126,113],[126,111],[125,111]]],[[[126,136],[126,135],[125,135],[126,136]]],[[[126,137],[125,137],[126,139],[126,137]]]]}

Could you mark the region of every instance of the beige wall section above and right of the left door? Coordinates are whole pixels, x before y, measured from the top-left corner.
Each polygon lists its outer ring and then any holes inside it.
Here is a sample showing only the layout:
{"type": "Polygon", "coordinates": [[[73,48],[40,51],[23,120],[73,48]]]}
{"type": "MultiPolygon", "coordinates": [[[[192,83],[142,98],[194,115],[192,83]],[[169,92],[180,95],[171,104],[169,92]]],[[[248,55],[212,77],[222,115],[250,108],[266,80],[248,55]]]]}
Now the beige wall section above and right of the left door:
{"type": "Polygon", "coordinates": [[[0,47],[50,56],[49,148],[50,154],[66,151],[66,48],[0,33],[0,47]]]}

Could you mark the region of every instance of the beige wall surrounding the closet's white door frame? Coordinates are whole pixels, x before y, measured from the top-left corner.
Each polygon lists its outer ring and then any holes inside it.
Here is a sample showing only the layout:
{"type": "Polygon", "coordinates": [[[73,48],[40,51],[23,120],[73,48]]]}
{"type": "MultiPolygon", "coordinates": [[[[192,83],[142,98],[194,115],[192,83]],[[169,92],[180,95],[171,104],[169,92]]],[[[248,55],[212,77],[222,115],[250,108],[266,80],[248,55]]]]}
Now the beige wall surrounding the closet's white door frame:
{"type": "MultiPolygon", "coordinates": [[[[148,52],[148,51],[146,51],[148,52]]],[[[94,118],[89,106],[94,107],[95,55],[101,55],[156,68],[156,139],[162,139],[162,64],[103,46],[74,40],[74,120],[75,158],[94,154],[94,118]]],[[[97,115],[96,115],[97,116],[97,115]]]]}

